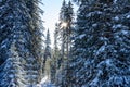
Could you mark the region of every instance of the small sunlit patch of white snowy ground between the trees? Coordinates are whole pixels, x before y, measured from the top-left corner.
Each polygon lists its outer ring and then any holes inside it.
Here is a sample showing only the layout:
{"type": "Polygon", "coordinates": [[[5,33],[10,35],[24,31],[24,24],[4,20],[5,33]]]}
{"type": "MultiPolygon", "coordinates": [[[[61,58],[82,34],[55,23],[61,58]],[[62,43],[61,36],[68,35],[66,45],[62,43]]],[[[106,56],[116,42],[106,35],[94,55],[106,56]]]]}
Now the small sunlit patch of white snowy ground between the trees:
{"type": "Polygon", "coordinates": [[[50,79],[48,76],[44,76],[40,84],[37,85],[37,87],[55,87],[53,84],[51,84],[50,79]]]}

